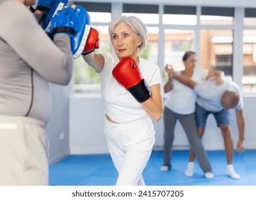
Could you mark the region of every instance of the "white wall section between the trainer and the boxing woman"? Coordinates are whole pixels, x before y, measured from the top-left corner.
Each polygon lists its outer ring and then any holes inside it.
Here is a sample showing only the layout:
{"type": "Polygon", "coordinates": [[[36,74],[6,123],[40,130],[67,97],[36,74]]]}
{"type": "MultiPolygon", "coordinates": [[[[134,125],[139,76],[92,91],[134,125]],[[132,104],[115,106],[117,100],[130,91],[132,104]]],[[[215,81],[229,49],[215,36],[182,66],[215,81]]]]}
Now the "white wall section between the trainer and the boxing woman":
{"type": "Polygon", "coordinates": [[[70,99],[70,154],[103,154],[108,147],[103,134],[103,100],[95,97],[70,99]]]}

